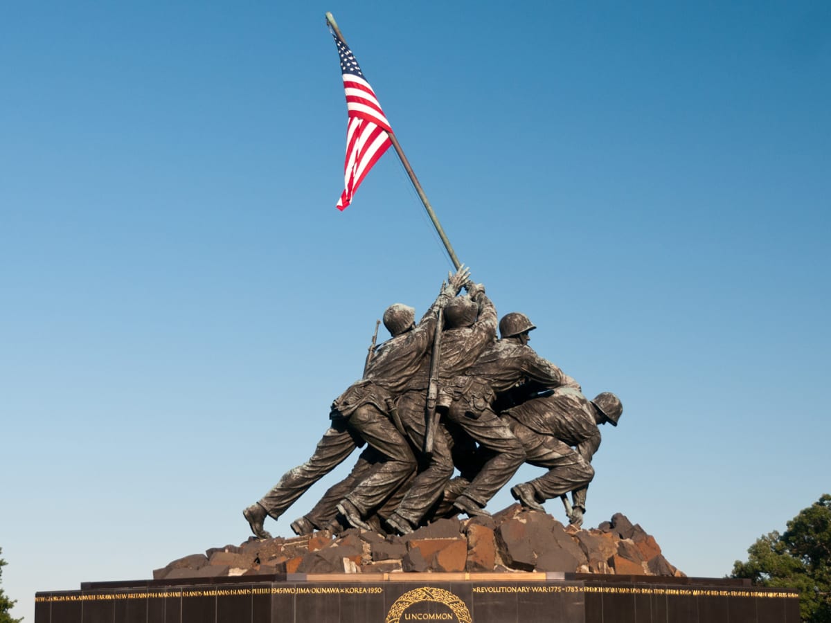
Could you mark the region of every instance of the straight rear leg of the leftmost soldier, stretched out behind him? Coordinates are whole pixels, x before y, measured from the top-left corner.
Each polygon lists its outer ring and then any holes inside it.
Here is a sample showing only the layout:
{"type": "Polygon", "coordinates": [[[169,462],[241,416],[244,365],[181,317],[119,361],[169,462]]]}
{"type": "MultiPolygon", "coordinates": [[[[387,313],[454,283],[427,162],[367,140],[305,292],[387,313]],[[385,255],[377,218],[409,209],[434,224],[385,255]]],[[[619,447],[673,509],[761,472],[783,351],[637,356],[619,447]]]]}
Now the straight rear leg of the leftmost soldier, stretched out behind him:
{"type": "Polygon", "coordinates": [[[312,484],[331,472],[356,449],[354,433],[343,420],[332,420],[317,448],[306,463],[288,470],[283,478],[259,501],[274,519],[279,518],[312,484]]]}

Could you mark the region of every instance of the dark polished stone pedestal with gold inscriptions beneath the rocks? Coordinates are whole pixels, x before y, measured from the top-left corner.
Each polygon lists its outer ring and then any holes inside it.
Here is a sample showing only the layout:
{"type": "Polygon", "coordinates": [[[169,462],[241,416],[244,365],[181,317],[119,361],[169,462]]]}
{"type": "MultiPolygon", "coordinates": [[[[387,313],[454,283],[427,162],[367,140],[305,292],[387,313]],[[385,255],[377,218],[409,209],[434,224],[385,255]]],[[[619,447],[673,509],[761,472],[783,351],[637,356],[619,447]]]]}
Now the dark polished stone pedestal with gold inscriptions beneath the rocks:
{"type": "Polygon", "coordinates": [[[799,594],[748,581],[578,573],[279,574],[85,582],[35,623],[799,623],[799,594]]]}

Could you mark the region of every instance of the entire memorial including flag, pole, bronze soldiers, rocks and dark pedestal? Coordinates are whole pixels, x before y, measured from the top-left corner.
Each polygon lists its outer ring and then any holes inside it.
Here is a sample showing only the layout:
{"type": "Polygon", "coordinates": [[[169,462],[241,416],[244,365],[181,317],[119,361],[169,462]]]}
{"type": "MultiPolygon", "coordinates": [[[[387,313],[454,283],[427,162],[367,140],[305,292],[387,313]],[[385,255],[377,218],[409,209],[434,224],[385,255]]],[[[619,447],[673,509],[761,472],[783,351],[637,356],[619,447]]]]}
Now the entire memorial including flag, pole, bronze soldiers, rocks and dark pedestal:
{"type": "Polygon", "coordinates": [[[621,513],[583,529],[599,427],[617,426],[621,400],[607,391],[589,399],[538,356],[528,316],[498,320],[331,13],[327,24],[348,110],[337,207],[393,146],[456,271],[419,321],[412,307],[386,309],[390,339],[376,346],[378,321],[364,374],[332,402],[311,458],[243,510],[253,537],[179,558],[153,580],[39,592],[36,623],[799,621],[796,592],[687,577],[621,513]],[[272,537],[268,518],[356,448],[364,449],[347,477],[292,522],[297,536],[272,537]],[[492,515],[489,500],[524,463],[543,471],[510,486],[516,503],[492,515]],[[567,524],[545,512],[553,498],[567,524]]]}

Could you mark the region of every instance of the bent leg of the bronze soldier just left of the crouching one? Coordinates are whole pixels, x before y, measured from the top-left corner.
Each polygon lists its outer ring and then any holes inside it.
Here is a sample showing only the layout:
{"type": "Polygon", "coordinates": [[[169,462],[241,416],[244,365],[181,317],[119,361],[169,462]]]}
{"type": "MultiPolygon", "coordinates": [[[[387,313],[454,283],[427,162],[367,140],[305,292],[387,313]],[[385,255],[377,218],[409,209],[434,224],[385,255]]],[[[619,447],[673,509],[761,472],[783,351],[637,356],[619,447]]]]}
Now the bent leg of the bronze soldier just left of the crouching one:
{"type": "Polygon", "coordinates": [[[499,419],[492,410],[484,410],[479,417],[470,417],[464,409],[451,406],[449,415],[451,422],[458,424],[484,449],[494,453],[456,503],[456,506],[467,510],[460,502],[463,502],[464,498],[469,498],[482,508],[523,464],[525,451],[519,439],[511,433],[508,424],[499,419]]]}

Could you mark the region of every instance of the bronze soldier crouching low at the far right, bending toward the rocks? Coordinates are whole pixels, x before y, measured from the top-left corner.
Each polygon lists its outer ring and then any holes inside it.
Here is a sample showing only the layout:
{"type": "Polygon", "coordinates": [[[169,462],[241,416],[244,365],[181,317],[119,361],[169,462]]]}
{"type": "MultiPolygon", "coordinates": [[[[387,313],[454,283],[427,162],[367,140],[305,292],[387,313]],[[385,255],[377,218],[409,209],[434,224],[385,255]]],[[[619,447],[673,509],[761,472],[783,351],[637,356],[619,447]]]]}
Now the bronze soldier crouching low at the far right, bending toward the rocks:
{"type": "Polygon", "coordinates": [[[548,468],[528,483],[511,488],[511,495],[525,508],[543,511],[545,500],[572,492],[568,521],[583,523],[588,483],[594,477],[591,461],[600,447],[598,424],[617,426],[623,405],[604,391],[588,400],[578,389],[563,387],[504,411],[510,429],[527,454],[526,462],[548,468]],[[572,449],[571,446],[574,446],[572,449]]]}

